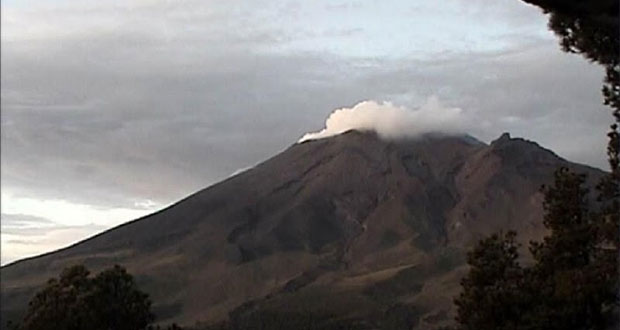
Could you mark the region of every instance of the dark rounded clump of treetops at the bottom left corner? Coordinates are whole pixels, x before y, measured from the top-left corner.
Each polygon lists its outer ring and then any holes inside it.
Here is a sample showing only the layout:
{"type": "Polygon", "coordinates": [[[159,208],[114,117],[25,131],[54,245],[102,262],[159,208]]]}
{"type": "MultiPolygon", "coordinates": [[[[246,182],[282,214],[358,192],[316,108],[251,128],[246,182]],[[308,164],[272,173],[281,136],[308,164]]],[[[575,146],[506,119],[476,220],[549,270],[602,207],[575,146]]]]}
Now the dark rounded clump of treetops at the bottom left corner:
{"type": "MultiPolygon", "coordinates": [[[[140,330],[153,320],[151,301],[127,271],[114,266],[97,276],[82,265],[50,279],[28,305],[20,330],[140,330]]],[[[175,329],[175,328],[171,328],[175,329]]]]}

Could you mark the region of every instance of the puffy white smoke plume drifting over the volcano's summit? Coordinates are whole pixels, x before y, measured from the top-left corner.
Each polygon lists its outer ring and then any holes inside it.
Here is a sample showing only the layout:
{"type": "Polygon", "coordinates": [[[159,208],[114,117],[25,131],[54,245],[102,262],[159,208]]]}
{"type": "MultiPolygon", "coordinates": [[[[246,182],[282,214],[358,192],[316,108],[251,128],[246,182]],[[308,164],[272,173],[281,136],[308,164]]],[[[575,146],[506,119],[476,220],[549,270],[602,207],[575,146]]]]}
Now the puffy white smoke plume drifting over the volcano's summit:
{"type": "Polygon", "coordinates": [[[441,105],[431,96],[418,109],[395,106],[390,102],[363,101],[352,108],[336,109],[325,121],[325,128],[306,133],[298,142],[326,138],[348,130],[375,131],[387,139],[417,137],[425,133],[463,133],[465,118],[460,108],[441,105]]]}

